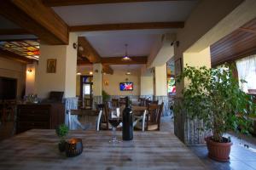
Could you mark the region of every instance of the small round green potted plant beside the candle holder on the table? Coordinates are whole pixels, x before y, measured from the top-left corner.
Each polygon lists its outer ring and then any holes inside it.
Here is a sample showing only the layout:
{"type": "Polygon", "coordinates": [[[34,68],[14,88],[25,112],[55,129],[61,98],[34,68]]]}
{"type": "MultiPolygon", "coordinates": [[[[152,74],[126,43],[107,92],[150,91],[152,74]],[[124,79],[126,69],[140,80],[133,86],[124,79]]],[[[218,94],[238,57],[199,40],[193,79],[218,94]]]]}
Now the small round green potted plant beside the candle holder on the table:
{"type": "Polygon", "coordinates": [[[59,127],[55,129],[55,132],[57,136],[60,138],[60,142],[58,144],[59,150],[63,152],[65,151],[65,146],[66,146],[65,137],[67,136],[67,133],[68,133],[68,127],[65,124],[61,124],[59,127]]]}

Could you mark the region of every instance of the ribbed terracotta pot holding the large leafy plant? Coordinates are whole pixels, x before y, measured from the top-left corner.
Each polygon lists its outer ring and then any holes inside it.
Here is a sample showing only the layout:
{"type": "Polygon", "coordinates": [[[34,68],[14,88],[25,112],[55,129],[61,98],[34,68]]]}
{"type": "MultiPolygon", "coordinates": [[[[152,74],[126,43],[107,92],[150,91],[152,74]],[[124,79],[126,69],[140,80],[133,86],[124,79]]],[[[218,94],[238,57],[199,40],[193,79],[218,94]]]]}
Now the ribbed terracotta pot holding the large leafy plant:
{"type": "Polygon", "coordinates": [[[208,156],[216,161],[229,161],[232,142],[219,143],[212,140],[212,136],[205,138],[208,156]]]}

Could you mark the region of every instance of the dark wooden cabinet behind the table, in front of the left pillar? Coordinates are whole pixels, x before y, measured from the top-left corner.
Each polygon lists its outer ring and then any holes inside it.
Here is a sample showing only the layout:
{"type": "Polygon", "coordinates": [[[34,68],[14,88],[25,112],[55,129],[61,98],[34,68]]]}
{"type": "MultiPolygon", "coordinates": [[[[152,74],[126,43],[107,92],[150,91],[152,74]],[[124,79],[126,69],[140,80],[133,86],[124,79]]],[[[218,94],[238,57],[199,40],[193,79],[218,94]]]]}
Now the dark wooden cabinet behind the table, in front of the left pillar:
{"type": "Polygon", "coordinates": [[[18,105],[16,132],[32,128],[55,128],[65,121],[65,108],[61,103],[18,105]]]}

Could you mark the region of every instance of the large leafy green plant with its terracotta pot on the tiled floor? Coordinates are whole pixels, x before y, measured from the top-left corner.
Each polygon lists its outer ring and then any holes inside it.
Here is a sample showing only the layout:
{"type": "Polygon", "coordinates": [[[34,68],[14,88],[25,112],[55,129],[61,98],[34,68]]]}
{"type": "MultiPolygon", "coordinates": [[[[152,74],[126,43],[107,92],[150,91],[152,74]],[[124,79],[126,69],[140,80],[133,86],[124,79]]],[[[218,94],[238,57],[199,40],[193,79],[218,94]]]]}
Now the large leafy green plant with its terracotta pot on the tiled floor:
{"type": "MultiPolygon", "coordinates": [[[[227,65],[225,65],[227,66],[227,65]]],[[[207,69],[186,66],[177,77],[189,83],[183,89],[183,99],[178,110],[185,111],[191,119],[202,120],[201,130],[212,132],[205,138],[208,156],[217,161],[228,161],[230,138],[224,133],[233,130],[248,133],[251,125],[249,114],[255,114],[251,96],[242,92],[231,69],[207,69]]]]}

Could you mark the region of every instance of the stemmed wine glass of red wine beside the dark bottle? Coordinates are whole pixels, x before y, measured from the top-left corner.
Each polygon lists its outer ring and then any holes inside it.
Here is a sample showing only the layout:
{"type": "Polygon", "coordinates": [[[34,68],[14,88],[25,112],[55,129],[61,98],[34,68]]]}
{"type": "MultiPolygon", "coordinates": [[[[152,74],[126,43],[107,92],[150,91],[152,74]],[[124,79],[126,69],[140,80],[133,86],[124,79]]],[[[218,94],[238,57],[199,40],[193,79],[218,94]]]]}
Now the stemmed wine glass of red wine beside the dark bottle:
{"type": "Polygon", "coordinates": [[[116,127],[119,126],[120,122],[122,122],[119,108],[115,111],[109,111],[108,122],[112,126],[112,139],[109,140],[110,143],[119,143],[120,140],[116,137],[116,127]]]}

